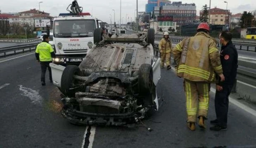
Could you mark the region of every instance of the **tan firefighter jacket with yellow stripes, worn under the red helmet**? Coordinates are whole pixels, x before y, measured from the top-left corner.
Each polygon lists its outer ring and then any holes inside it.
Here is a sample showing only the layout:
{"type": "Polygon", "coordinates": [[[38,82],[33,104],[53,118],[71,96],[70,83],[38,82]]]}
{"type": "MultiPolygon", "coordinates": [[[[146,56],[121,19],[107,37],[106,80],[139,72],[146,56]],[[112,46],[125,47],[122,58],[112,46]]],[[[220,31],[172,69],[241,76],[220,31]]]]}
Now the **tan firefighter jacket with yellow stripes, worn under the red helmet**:
{"type": "Polygon", "coordinates": [[[173,49],[173,55],[178,64],[178,77],[212,83],[216,81],[215,73],[223,73],[216,43],[205,32],[198,32],[194,37],[182,40],[173,49]]]}

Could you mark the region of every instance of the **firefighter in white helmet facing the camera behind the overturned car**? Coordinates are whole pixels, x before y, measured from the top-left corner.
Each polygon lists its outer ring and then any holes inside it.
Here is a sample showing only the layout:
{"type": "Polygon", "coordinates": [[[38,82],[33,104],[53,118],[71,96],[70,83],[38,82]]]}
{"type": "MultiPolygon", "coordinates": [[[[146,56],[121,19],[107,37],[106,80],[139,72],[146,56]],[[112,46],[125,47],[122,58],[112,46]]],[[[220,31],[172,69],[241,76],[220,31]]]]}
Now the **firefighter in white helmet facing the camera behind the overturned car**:
{"type": "Polygon", "coordinates": [[[167,70],[171,69],[170,59],[171,59],[171,48],[172,43],[169,38],[169,33],[167,31],[164,32],[164,38],[161,39],[159,43],[159,51],[161,54],[161,68],[164,68],[164,61],[166,61],[167,70]]]}

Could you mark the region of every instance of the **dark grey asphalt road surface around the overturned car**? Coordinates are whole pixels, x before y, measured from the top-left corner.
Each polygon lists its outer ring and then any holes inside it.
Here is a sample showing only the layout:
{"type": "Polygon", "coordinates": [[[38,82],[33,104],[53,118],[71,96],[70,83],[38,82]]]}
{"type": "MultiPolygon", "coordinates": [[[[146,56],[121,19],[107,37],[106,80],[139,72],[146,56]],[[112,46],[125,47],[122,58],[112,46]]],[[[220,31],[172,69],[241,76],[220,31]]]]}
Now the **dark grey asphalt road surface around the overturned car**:
{"type": "MultiPolygon", "coordinates": [[[[26,53],[28,54],[28,53],[26,53]]],[[[20,55],[19,55],[20,56],[20,55]]],[[[23,56],[23,55],[22,55],[23,56]]],[[[0,148],[80,148],[86,127],[69,124],[61,117],[60,93],[53,84],[40,84],[40,65],[34,54],[8,60],[0,59],[0,148]],[[8,60],[1,62],[3,60],[8,60]]],[[[48,73],[48,72],[47,72],[48,73]]],[[[48,75],[47,75],[48,78],[48,75]]],[[[48,80],[48,79],[47,79],[48,80]]],[[[91,133],[93,148],[192,148],[192,147],[256,147],[255,114],[230,103],[228,130],[210,131],[209,120],[215,118],[214,94],[207,130],[186,126],[183,80],[170,70],[161,69],[158,95],[161,105],[150,119],[134,128],[96,127],[91,133]]]]}

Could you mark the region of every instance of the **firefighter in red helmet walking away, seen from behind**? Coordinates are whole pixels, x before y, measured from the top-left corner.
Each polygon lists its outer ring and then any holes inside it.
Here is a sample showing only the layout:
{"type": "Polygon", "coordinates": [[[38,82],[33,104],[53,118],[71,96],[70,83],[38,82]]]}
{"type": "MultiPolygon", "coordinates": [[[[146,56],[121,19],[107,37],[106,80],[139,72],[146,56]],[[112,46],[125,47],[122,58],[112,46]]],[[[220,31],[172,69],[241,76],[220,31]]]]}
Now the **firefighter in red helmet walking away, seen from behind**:
{"type": "Polygon", "coordinates": [[[225,79],[219,50],[209,36],[209,30],[208,24],[201,23],[194,37],[185,38],[173,49],[177,76],[184,78],[187,123],[190,130],[195,130],[196,117],[199,118],[199,127],[206,129],[210,84],[216,81],[215,73],[221,81],[225,79]]]}

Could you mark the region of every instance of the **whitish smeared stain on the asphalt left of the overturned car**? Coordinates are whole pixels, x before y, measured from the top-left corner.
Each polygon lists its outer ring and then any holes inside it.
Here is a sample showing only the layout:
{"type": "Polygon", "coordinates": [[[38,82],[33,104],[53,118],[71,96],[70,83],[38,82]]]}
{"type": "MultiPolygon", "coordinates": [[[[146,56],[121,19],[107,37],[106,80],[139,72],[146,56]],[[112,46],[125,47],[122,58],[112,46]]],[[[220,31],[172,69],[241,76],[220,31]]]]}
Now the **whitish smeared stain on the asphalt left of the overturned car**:
{"type": "Polygon", "coordinates": [[[39,91],[30,89],[30,88],[25,88],[22,85],[18,85],[18,86],[19,86],[19,90],[23,92],[23,94],[20,94],[20,95],[29,97],[32,103],[36,105],[42,104],[43,97],[39,95],[39,91]]]}

